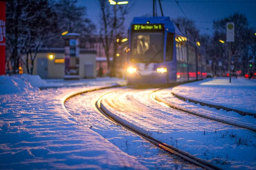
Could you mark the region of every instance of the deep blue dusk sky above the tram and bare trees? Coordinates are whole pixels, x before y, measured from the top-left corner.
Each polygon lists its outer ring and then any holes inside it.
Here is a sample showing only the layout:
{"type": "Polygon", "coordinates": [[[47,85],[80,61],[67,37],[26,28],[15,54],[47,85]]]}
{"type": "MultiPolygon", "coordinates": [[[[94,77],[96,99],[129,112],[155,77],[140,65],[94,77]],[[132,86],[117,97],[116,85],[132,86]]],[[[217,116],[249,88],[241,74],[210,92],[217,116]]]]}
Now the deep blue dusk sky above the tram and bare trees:
{"type": "MultiPolygon", "coordinates": [[[[120,1],[120,0],[119,0],[120,1]]],[[[195,21],[201,34],[212,34],[212,21],[230,16],[235,12],[244,13],[251,27],[256,27],[256,0],[181,0],[178,1],[185,15],[195,21]],[[209,28],[207,30],[206,28],[209,28]]],[[[161,0],[164,16],[172,18],[186,17],[174,0],[161,0]]],[[[77,0],[79,6],[87,8],[87,16],[99,28],[100,8],[97,0],[77,0]]],[[[127,16],[125,28],[128,28],[133,17],[152,15],[152,0],[129,0],[132,6],[127,16]]],[[[157,3],[158,16],[161,15],[157,3]]]]}

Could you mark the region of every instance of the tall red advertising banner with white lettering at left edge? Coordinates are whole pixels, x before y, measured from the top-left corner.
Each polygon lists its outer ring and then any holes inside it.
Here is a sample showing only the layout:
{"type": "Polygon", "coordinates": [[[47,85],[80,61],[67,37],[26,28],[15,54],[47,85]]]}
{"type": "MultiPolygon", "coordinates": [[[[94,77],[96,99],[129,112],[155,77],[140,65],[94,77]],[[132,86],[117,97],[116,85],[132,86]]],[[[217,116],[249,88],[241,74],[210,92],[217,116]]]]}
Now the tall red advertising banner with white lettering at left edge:
{"type": "Polygon", "coordinates": [[[0,75],[5,74],[5,2],[0,1],[0,75]]]}

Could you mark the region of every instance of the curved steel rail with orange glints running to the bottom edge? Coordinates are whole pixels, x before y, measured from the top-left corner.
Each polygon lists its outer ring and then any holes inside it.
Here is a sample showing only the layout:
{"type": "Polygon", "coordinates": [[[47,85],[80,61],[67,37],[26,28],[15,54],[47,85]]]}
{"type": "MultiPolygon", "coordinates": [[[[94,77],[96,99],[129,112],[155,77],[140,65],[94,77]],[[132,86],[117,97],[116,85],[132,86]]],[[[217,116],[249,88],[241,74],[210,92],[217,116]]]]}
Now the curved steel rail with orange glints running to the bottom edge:
{"type": "MultiPolygon", "coordinates": [[[[111,92],[109,92],[111,93],[111,92]]],[[[103,97],[105,95],[107,95],[108,93],[106,94],[103,94],[96,102],[95,102],[95,107],[99,110],[100,113],[102,113],[105,117],[107,117],[108,119],[110,119],[111,121],[117,123],[117,124],[120,124],[122,127],[126,128],[127,130],[137,134],[138,136],[148,140],[149,142],[155,144],[157,147],[159,148],[162,148],[164,149],[165,151],[171,153],[171,154],[175,154],[176,156],[186,160],[186,161],[189,161],[201,168],[204,168],[204,169],[207,169],[207,170],[214,170],[214,169],[217,169],[219,170],[220,168],[210,164],[209,162],[203,160],[203,159],[200,159],[200,158],[197,158],[187,152],[184,152],[180,149],[177,149],[171,145],[168,145],[164,142],[161,142],[153,137],[150,137],[148,136],[147,134],[144,134],[142,132],[140,132],[138,129],[132,127],[132,126],[129,126],[128,124],[116,119],[115,117],[111,116],[111,113],[110,111],[108,111],[105,107],[102,107],[103,105],[101,104],[101,101],[103,99],[103,97]]]]}

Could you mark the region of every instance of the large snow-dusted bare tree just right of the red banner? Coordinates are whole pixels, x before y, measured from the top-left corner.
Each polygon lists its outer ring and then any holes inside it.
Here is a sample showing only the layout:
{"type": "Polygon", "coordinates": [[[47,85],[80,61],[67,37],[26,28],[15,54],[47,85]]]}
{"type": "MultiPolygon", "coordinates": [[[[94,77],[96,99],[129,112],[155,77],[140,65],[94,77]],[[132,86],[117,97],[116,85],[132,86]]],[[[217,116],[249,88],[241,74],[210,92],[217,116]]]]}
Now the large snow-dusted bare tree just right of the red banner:
{"type": "Polygon", "coordinates": [[[13,0],[7,2],[7,61],[12,61],[13,73],[16,73],[18,61],[33,73],[33,64],[37,51],[51,40],[53,28],[56,26],[55,13],[49,8],[47,0],[13,0]],[[32,57],[31,49],[35,48],[32,57]],[[24,59],[22,54],[26,53],[24,59]],[[30,54],[30,60],[28,58],[30,54]],[[29,66],[29,61],[31,65],[29,66]]]}

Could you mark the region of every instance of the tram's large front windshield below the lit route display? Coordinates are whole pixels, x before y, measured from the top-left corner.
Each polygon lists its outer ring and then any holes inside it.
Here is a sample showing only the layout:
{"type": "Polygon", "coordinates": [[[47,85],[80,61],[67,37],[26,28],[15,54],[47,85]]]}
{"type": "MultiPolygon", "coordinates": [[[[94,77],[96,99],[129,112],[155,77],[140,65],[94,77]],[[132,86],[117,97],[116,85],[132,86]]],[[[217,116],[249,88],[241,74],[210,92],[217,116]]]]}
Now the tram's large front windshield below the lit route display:
{"type": "Polygon", "coordinates": [[[163,62],[164,34],[162,32],[133,33],[131,62],[163,62]]]}

